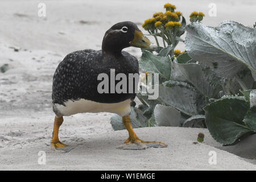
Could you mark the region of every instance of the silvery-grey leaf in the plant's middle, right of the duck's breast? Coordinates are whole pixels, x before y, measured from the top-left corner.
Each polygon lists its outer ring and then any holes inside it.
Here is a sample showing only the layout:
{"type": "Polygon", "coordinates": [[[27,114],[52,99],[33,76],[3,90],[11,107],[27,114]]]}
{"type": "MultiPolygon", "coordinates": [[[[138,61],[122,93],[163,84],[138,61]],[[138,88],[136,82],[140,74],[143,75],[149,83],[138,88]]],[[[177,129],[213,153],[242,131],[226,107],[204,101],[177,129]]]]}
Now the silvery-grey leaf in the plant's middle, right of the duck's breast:
{"type": "Polygon", "coordinates": [[[187,115],[199,114],[197,111],[199,97],[200,93],[185,82],[170,80],[159,85],[159,99],[187,115]]]}

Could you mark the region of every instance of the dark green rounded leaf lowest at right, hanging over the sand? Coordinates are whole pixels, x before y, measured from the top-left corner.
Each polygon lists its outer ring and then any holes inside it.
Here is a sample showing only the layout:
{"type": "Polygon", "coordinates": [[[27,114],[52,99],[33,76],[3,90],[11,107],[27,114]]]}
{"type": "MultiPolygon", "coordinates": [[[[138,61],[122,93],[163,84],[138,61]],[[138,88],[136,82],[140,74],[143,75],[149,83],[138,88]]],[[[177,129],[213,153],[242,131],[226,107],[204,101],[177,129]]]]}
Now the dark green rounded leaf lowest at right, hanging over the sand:
{"type": "Polygon", "coordinates": [[[248,109],[249,103],[237,96],[222,97],[205,106],[205,123],[212,137],[222,144],[233,144],[256,130],[243,122],[248,109]]]}

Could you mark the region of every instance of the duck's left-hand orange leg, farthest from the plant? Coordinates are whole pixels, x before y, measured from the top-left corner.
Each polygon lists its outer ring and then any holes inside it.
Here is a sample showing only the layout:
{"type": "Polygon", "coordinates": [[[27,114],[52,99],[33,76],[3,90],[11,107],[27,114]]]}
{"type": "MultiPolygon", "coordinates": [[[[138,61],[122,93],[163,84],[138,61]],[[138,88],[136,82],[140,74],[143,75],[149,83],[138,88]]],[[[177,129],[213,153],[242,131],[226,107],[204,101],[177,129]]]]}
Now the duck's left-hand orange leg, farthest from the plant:
{"type": "Polygon", "coordinates": [[[59,140],[59,128],[63,123],[63,117],[55,117],[54,119],[54,126],[53,126],[53,132],[52,132],[52,142],[51,145],[54,148],[64,148],[67,145],[64,143],[61,143],[59,140]]]}

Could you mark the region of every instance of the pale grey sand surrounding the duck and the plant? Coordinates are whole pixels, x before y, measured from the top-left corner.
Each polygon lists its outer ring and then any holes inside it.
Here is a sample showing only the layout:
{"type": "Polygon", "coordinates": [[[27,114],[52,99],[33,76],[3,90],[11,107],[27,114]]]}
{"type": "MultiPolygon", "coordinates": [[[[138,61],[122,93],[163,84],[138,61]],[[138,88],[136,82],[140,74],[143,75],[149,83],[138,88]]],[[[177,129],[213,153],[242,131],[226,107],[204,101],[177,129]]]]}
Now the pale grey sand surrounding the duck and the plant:
{"type": "MultiPolygon", "coordinates": [[[[219,149],[207,129],[147,127],[135,131],[144,140],[160,140],[167,148],[118,150],[127,131],[113,131],[110,113],[86,113],[65,117],[60,139],[73,147],[69,152],[49,146],[53,119],[52,76],[69,52],[101,49],[105,31],[112,24],[131,20],[140,27],[166,1],[44,1],[46,17],[38,16],[40,1],[0,2],[0,169],[1,170],[254,170],[245,160],[219,149]],[[197,143],[199,132],[205,142],[197,143]],[[46,165],[38,164],[38,152],[46,152],[46,165]],[[217,164],[208,155],[216,151],[217,164]]],[[[171,1],[188,18],[193,10],[206,14],[203,23],[217,26],[225,19],[246,26],[255,23],[256,4],[249,1],[171,1]],[[216,3],[217,16],[209,17],[209,3],[216,3]],[[237,12],[240,12],[238,15],[237,12]]],[[[150,37],[149,37],[150,38],[150,37]]],[[[150,38],[152,40],[152,38],[150,38]]],[[[184,50],[184,44],[178,48],[184,50]]],[[[127,48],[141,56],[138,48],[127,48]]],[[[222,148],[223,149],[223,148],[222,148]]],[[[232,149],[229,150],[233,152],[232,149]]]]}

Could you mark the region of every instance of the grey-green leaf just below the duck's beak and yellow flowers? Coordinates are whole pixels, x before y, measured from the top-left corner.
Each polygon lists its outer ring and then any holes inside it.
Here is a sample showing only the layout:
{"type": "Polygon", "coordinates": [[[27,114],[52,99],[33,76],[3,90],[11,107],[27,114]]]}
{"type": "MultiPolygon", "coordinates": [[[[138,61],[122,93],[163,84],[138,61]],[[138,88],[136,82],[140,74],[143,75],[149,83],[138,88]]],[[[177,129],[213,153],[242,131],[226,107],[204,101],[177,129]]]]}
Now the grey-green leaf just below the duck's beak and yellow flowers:
{"type": "Polygon", "coordinates": [[[171,59],[169,56],[157,56],[142,49],[139,67],[150,73],[159,73],[160,76],[170,79],[171,76],[171,59]]]}

